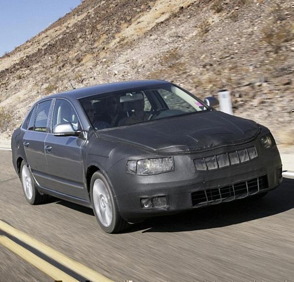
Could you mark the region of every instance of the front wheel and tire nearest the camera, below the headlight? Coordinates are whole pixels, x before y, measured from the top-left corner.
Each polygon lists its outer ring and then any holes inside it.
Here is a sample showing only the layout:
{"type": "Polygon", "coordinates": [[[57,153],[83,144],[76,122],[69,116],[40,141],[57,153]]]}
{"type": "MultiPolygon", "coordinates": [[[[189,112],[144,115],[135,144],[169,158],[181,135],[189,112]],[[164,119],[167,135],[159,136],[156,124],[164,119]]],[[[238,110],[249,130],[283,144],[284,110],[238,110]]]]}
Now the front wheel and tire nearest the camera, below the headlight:
{"type": "Polygon", "coordinates": [[[112,189],[105,176],[96,171],[91,179],[91,201],[96,220],[106,233],[118,233],[129,224],[118,212],[112,189]]]}

